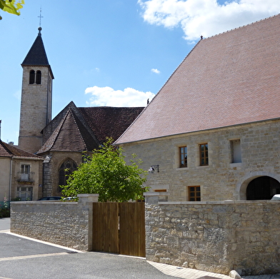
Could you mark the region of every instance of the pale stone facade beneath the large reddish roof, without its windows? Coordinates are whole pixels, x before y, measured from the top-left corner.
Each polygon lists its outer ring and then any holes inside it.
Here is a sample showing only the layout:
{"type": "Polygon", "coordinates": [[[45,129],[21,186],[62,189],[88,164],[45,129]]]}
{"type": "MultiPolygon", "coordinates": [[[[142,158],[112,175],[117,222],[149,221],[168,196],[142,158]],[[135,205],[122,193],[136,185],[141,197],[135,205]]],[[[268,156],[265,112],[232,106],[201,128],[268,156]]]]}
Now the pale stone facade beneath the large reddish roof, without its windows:
{"type": "MultiPolygon", "coordinates": [[[[262,121],[208,131],[166,136],[124,144],[129,161],[136,153],[141,168],[159,165],[145,186],[166,190],[169,201],[189,201],[188,186],[201,187],[201,201],[246,200],[250,181],[268,176],[280,181],[280,121],[262,121]],[[240,140],[241,163],[232,163],[231,141],[240,140]],[[209,165],[199,166],[199,144],[208,143],[209,165]],[[179,147],[187,146],[187,168],[179,166],[179,147]]],[[[280,193],[280,186],[271,196],[280,193]]]]}

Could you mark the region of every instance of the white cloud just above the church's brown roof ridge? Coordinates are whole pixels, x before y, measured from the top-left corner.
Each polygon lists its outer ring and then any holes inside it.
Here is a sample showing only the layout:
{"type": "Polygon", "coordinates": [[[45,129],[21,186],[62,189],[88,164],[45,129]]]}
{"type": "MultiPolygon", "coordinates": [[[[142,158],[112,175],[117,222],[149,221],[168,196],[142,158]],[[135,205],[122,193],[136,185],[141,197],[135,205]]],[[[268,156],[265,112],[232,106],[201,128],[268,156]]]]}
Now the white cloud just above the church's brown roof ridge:
{"type": "Polygon", "coordinates": [[[134,88],[125,88],[124,91],[113,88],[93,86],[86,88],[86,94],[91,97],[86,103],[89,106],[146,106],[147,99],[151,101],[155,94],[142,92],[134,88]]]}

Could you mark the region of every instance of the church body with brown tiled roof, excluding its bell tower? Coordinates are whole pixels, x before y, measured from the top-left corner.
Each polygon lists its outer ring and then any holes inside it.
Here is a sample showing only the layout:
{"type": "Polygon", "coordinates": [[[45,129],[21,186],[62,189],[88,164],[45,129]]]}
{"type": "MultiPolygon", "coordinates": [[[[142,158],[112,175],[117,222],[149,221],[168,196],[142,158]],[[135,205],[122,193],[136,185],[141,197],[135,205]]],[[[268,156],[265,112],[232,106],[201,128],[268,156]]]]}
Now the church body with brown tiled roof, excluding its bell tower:
{"type": "Polygon", "coordinates": [[[106,141],[118,138],[143,108],[77,108],[70,102],[42,131],[43,146],[37,154],[44,161],[44,196],[61,196],[66,174],[106,141]],[[68,169],[67,173],[64,171],[68,169]]]}

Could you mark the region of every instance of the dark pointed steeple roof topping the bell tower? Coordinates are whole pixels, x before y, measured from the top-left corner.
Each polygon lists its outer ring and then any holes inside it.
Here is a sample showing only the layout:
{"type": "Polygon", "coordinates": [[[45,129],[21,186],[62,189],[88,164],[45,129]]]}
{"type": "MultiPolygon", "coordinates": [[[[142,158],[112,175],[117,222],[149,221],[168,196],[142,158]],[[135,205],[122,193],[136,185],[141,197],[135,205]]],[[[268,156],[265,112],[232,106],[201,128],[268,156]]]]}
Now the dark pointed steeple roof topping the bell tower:
{"type": "Polygon", "coordinates": [[[31,46],[31,49],[26,55],[26,58],[22,62],[21,66],[48,66],[51,71],[51,66],[49,65],[49,61],[44,48],[43,39],[41,37],[41,27],[39,27],[38,30],[38,36],[36,37],[33,45],[31,46]]]}

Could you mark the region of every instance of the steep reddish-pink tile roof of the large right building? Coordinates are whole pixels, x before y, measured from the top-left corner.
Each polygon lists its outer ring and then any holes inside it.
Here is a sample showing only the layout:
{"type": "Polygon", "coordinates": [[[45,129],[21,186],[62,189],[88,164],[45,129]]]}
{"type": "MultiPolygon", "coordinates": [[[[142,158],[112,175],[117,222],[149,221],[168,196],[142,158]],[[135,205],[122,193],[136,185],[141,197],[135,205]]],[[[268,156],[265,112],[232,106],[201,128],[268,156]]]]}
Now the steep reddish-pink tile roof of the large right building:
{"type": "Polygon", "coordinates": [[[116,141],[280,117],[280,14],[202,39],[116,141]]]}

